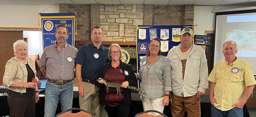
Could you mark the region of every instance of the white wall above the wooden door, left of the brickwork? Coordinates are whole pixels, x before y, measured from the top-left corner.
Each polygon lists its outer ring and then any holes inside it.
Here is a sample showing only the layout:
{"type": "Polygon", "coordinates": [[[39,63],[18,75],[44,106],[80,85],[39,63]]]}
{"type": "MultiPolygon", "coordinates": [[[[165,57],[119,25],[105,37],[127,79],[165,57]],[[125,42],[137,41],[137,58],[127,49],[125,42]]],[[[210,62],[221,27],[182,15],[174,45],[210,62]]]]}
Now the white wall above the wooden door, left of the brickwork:
{"type": "MultiPolygon", "coordinates": [[[[38,13],[50,6],[38,4],[0,4],[0,27],[38,28],[38,13]]],[[[59,5],[53,5],[43,13],[59,13],[59,5]]]]}

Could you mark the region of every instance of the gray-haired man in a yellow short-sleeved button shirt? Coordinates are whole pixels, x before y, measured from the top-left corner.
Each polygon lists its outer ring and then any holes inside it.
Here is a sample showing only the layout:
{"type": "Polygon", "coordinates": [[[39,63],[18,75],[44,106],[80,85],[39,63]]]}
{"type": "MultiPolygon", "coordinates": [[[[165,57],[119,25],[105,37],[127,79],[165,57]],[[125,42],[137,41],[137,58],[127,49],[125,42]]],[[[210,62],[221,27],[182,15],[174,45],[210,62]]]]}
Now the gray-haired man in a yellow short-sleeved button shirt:
{"type": "Polygon", "coordinates": [[[211,114],[212,117],[242,117],[243,106],[256,84],[252,67],[236,57],[236,42],[226,41],[222,52],[225,59],[217,62],[208,77],[211,114]]]}

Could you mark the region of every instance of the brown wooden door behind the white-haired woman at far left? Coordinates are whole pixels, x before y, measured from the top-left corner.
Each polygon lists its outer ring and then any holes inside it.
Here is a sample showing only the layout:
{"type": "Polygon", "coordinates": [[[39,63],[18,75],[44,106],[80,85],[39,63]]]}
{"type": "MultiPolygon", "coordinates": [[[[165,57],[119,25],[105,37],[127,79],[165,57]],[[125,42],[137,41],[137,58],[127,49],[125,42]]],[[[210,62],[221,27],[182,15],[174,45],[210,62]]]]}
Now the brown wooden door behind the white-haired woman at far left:
{"type": "Polygon", "coordinates": [[[3,85],[5,64],[14,57],[13,43],[23,39],[23,31],[0,31],[0,85],[3,85]]]}

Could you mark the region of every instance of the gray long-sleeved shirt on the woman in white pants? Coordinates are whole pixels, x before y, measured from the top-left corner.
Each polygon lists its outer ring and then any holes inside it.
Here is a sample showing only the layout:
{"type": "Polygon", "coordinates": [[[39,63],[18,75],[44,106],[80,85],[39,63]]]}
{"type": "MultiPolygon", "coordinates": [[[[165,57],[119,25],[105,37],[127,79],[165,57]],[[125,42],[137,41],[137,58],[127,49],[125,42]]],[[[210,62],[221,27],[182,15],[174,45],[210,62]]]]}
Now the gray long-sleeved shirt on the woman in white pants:
{"type": "Polygon", "coordinates": [[[147,98],[164,97],[164,91],[171,91],[171,70],[170,61],[160,55],[155,62],[148,67],[148,56],[142,58],[137,79],[141,79],[141,96],[147,98]]]}

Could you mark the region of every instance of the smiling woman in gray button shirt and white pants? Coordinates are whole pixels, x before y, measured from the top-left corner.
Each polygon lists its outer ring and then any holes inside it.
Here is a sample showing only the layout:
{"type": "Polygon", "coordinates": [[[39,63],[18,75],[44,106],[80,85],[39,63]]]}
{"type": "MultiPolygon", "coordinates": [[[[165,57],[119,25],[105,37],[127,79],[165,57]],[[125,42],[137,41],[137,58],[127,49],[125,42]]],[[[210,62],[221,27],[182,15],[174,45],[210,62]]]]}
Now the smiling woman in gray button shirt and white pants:
{"type": "MultiPolygon", "coordinates": [[[[171,91],[171,70],[169,60],[161,54],[161,41],[152,39],[146,56],[142,58],[137,79],[141,80],[142,104],[144,111],[157,110],[161,113],[169,104],[171,91]]],[[[151,113],[151,115],[158,115],[151,113]]]]}

